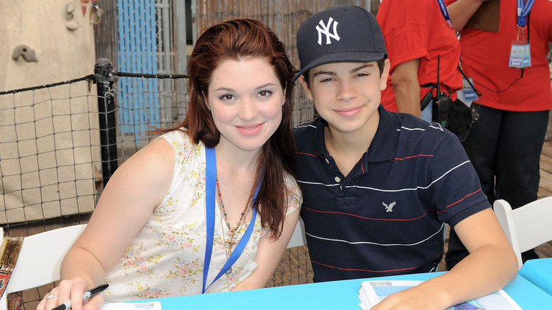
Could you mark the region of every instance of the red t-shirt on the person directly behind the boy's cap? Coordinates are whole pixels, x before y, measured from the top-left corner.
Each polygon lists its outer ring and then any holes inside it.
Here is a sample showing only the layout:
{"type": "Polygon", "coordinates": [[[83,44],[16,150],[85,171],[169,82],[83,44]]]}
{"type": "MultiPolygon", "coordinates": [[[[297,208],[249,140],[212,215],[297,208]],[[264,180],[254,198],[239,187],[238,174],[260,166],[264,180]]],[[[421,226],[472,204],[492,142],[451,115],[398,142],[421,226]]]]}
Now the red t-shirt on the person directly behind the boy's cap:
{"type": "MultiPolygon", "coordinates": [[[[462,76],[456,68],[460,59],[460,43],[436,0],[384,0],[376,19],[384,33],[391,62],[387,88],[381,92],[381,103],[385,108],[397,110],[391,86],[393,69],[413,59],[420,59],[420,85],[437,83],[437,55],[440,54],[441,91],[447,91],[446,87],[453,92],[461,88],[462,76]]],[[[420,101],[429,91],[430,88],[420,88],[420,101]]]]}

